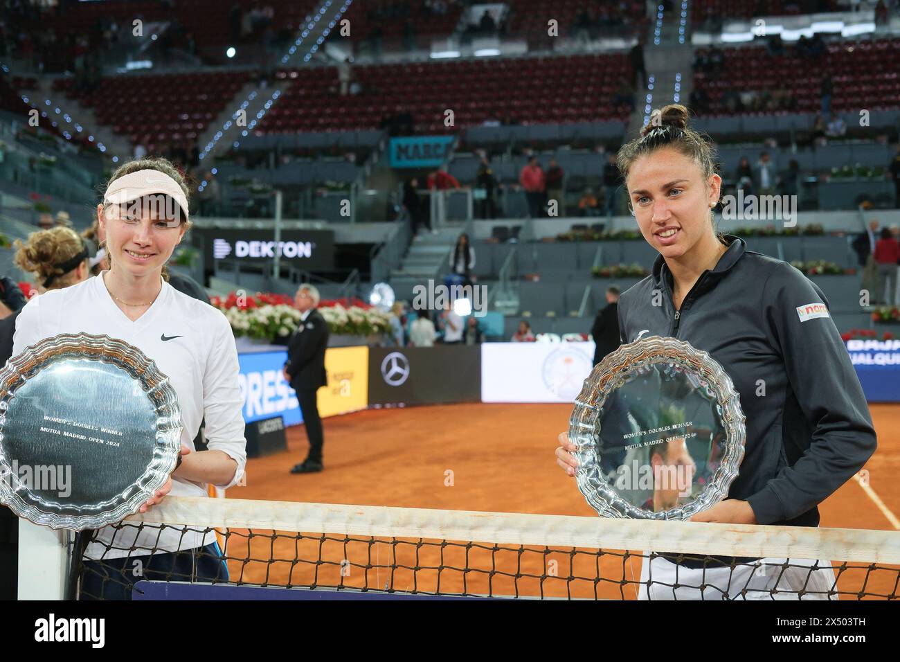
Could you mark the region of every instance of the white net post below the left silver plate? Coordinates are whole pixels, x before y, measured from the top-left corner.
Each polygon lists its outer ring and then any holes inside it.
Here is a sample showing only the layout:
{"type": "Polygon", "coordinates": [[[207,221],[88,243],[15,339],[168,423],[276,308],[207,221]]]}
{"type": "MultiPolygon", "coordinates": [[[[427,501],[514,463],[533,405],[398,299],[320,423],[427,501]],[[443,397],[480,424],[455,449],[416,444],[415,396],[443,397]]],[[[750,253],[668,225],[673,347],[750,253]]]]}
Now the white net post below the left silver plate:
{"type": "Polygon", "coordinates": [[[63,600],[68,571],[68,531],[19,518],[19,600],[63,600]]]}

